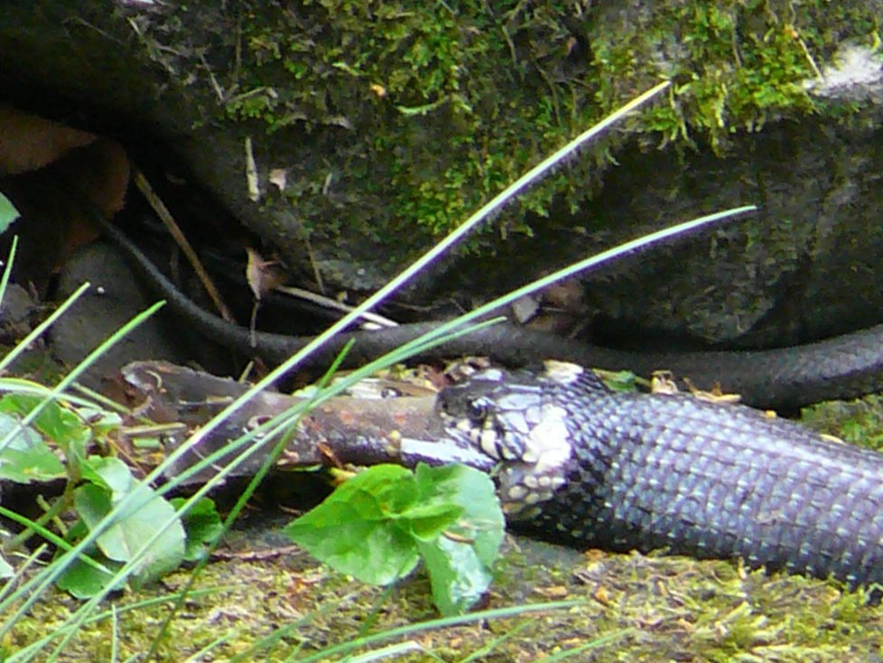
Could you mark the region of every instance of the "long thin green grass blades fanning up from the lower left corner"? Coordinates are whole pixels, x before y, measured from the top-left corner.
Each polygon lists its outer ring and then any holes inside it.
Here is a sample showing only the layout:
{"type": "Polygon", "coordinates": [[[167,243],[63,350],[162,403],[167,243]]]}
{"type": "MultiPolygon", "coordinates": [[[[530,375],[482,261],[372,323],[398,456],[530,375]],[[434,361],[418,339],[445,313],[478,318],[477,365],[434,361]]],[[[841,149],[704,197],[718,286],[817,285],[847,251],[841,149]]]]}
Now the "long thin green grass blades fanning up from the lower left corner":
{"type": "MultiPolygon", "coordinates": [[[[274,371],[267,375],[266,378],[258,382],[254,387],[249,388],[242,397],[237,398],[233,403],[231,403],[222,412],[220,412],[218,416],[214,417],[207,425],[203,426],[199,431],[193,434],[186,444],[181,445],[181,447],[173,452],[168,458],[164,459],[164,461],[160,465],[158,465],[152,472],[144,477],[144,485],[151,485],[153,484],[153,482],[161,478],[163,476],[163,472],[167,468],[169,468],[172,463],[181,458],[181,456],[184,453],[187,453],[188,450],[200,444],[200,442],[205,439],[207,435],[218,428],[218,425],[221,425],[226,417],[236,412],[238,408],[243,406],[249,399],[255,397],[256,394],[258,394],[260,391],[273,384],[274,381],[277,378],[281,377],[284,373],[287,373],[290,370],[296,368],[298,364],[300,364],[302,360],[309,356],[312,351],[319,348],[322,343],[328,341],[334,334],[342,331],[351,322],[357,320],[358,317],[361,316],[363,313],[372,310],[376,307],[378,303],[383,302],[391,294],[394,294],[404,284],[413,279],[414,275],[417,275],[427,266],[430,266],[433,261],[441,256],[441,254],[449,250],[457,241],[460,240],[460,238],[466,235],[471,229],[475,228],[479,223],[486,221],[489,217],[497,213],[508,203],[515,200],[516,197],[520,193],[525,191],[528,186],[530,186],[534,182],[539,181],[546,173],[549,173],[553,168],[564,163],[568,158],[571,158],[580,150],[583,145],[586,145],[594,137],[601,135],[603,132],[608,130],[610,126],[613,126],[615,123],[621,121],[622,118],[627,117],[629,113],[635,111],[638,107],[646,104],[647,101],[654,98],[667,86],[668,83],[663,82],[655,86],[655,88],[646,91],[646,93],[640,95],[633,101],[621,107],[620,109],[618,109],[617,112],[602,120],[598,125],[591,127],[588,131],[575,138],[571,143],[565,145],[564,147],[562,147],[562,149],[552,154],[549,158],[545,159],[543,163],[538,164],[529,173],[525,173],[523,177],[519,178],[516,182],[508,186],[506,190],[501,191],[500,194],[497,195],[497,197],[495,197],[492,201],[489,201],[488,204],[483,206],[469,219],[464,221],[460,228],[456,229],[448,237],[442,239],[441,242],[439,242],[435,247],[432,247],[432,249],[427,251],[423,255],[423,257],[417,259],[413,265],[408,266],[400,275],[396,276],[386,286],[377,291],[376,294],[370,296],[364,303],[359,305],[351,313],[341,318],[339,322],[335,322],[333,325],[331,325],[327,331],[323,332],[309,345],[294,354],[289,360],[285,361],[277,369],[274,369],[274,371]]],[[[382,358],[370,362],[369,364],[367,364],[367,366],[351,372],[346,379],[326,385],[324,388],[321,389],[321,391],[311,401],[310,404],[295,406],[290,412],[275,417],[271,422],[268,422],[260,429],[252,431],[251,433],[242,436],[238,440],[231,441],[228,449],[222,450],[214,454],[213,456],[205,459],[203,462],[200,462],[198,465],[194,466],[190,472],[182,475],[181,477],[178,477],[176,480],[169,482],[158,491],[160,495],[163,495],[169,490],[173,490],[178,481],[182,481],[183,479],[185,479],[187,476],[190,475],[191,472],[199,472],[201,469],[208,467],[214,462],[217,462],[218,458],[221,455],[227,454],[230,450],[236,450],[238,453],[235,460],[229,462],[224,468],[218,471],[217,474],[212,478],[212,480],[207,482],[203,488],[198,490],[194,495],[191,496],[191,498],[185,500],[178,509],[178,512],[172,518],[168,518],[168,520],[163,523],[163,527],[159,528],[157,534],[144,541],[140,552],[135,554],[131,561],[127,562],[125,565],[122,565],[121,568],[116,570],[113,582],[107,584],[107,588],[104,591],[97,593],[95,596],[88,599],[88,601],[83,602],[79,606],[79,609],[70,614],[70,617],[62,625],[60,625],[51,636],[44,638],[39,642],[34,642],[26,649],[11,653],[8,658],[6,658],[6,660],[10,662],[14,661],[16,663],[20,661],[30,661],[38,657],[49,661],[55,660],[59,658],[59,656],[63,653],[70,638],[74,637],[78,633],[79,629],[83,627],[83,625],[98,619],[110,619],[111,617],[113,617],[113,614],[110,612],[101,612],[101,604],[105,599],[107,599],[107,594],[114,586],[125,583],[126,578],[128,578],[130,574],[134,572],[136,566],[139,564],[141,556],[143,556],[144,553],[150,548],[156,538],[161,536],[164,529],[171,528],[175,523],[179,522],[179,519],[186,513],[188,513],[188,511],[192,509],[194,505],[196,505],[199,500],[206,493],[209,492],[209,490],[217,486],[220,481],[223,481],[225,476],[227,476],[230,472],[233,472],[233,470],[235,470],[236,467],[242,462],[245,462],[252,453],[256,453],[259,446],[257,444],[254,444],[256,442],[257,435],[264,436],[264,439],[265,435],[283,436],[287,430],[290,430],[293,422],[296,421],[298,417],[302,416],[304,412],[309,409],[309,407],[320,405],[322,402],[328,400],[329,398],[338,395],[342,390],[349,388],[349,386],[357,382],[359,379],[367,377],[373,372],[376,372],[376,370],[378,369],[384,368],[396,362],[403,361],[408,357],[413,356],[415,353],[419,353],[421,350],[427,347],[438,344],[448,338],[451,334],[469,333],[469,324],[479,318],[479,316],[483,316],[488,312],[492,312],[502,305],[511,303],[517,298],[524,296],[525,294],[533,293],[536,290],[544,288],[545,286],[550,285],[560,279],[567,278],[568,276],[577,274],[583,270],[590,269],[603,263],[609,262],[610,260],[623,256],[639,247],[646,247],[647,245],[653,244],[655,242],[663,241],[666,238],[674,238],[678,235],[683,235],[684,233],[690,232],[694,229],[702,228],[722,219],[729,219],[735,215],[752,209],[752,207],[740,207],[733,210],[725,210],[716,214],[704,216],[699,219],[693,219],[691,221],[680,223],[672,226],[671,228],[661,230],[647,235],[646,237],[637,238],[618,247],[611,248],[596,256],[581,260],[580,262],[575,263],[572,266],[567,266],[553,275],[546,276],[535,281],[534,283],[518,288],[514,292],[505,294],[475,311],[460,316],[460,318],[454,321],[441,325],[437,330],[432,331],[431,333],[428,333],[419,339],[406,343],[402,348],[399,348],[395,352],[391,352],[382,358]]],[[[63,309],[69,306],[70,303],[75,301],[76,296],[79,296],[81,292],[82,291],[78,291],[78,293],[76,293],[68,303],[65,303],[60,309],[60,312],[63,313],[63,309]]],[[[68,376],[61,379],[54,388],[46,388],[42,390],[36,389],[37,391],[41,392],[41,396],[45,399],[45,403],[51,403],[60,398],[70,399],[71,397],[68,389],[70,388],[70,385],[79,377],[79,375],[81,375],[84,370],[88,369],[91,363],[98,357],[98,355],[102,351],[106,350],[107,347],[109,347],[113,342],[116,342],[116,340],[127,331],[130,331],[137,324],[143,322],[143,320],[148,315],[153,313],[156,308],[157,307],[153,307],[142,315],[137,316],[129,324],[125,325],[125,327],[117,332],[111,339],[108,339],[106,343],[102,344],[100,348],[90,354],[89,357],[84,360],[76,369],[72,370],[68,376]]],[[[482,322],[481,324],[489,324],[492,322],[493,321],[482,322]]],[[[51,324],[51,321],[48,321],[46,325],[42,325],[39,330],[35,330],[35,333],[42,332],[45,326],[47,326],[48,324],[51,324]]],[[[22,350],[14,350],[14,352],[16,351],[20,352],[22,350]]],[[[8,363],[8,361],[9,360],[7,358],[7,360],[5,360],[5,363],[8,363]]],[[[5,364],[3,362],[0,362],[0,365],[5,364]]],[[[6,385],[4,388],[13,387],[6,385]]],[[[33,386],[29,388],[33,389],[33,386]]],[[[34,416],[37,415],[35,414],[34,416]]],[[[24,423],[26,424],[27,422],[24,423]]],[[[5,442],[6,444],[8,444],[8,440],[5,442]]],[[[3,444],[3,442],[0,442],[0,448],[2,448],[3,444]]],[[[282,445],[283,444],[277,445],[277,449],[281,449],[282,445]]],[[[270,468],[272,462],[272,458],[267,460],[262,472],[259,472],[256,480],[253,481],[250,484],[249,488],[245,491],[246,494],[243,499],[240,500],[239,504],[237,505],[237,509],[241,509],[241,507],[244,505],[247,495],[250,494],[252,490],[254,490],[257,482],[260,481],[264,473],[270,468]]],[[[88,532],[88,535],[83,537],[76,546],[71,546],[69,550],[61,552],[60,555],[57,556],[50,565],[47,565],[39,571],[30,574],[29,577],[18,577],[15,579],[16,582],[14,585],[7,585],[5,592],[0,593],[0,614],[5,615],[5,620],[2,626],[0,626],[0,641],[6,638],[8,634],[12,630],[14,630],[16,624],[26,617],[28,611],[33,607],[34,603],[41,601],[45,596],[47,596],[47,593],[51,590],[52,584],[54,584],[60,578],[60,576],[65,573],[70,565],[74,564],[81,556],[83,556],[87,552],[89,546],[93,546],[98,537],[101,536],[103,532],[107,531],[107,528],[112,527],[117,518],[119,518],[121,514],[125,512],[125,509],[129,509],[131,505],[132,502],[130,500],[123,500],[118,505],[116,505],[114,509],[107,513],[106,518],[98,523],[96,527],[91,528],[88,532]]],[[[234,510],[237,511],[237,509],[234,510]]],[[[186,592],[181,593],[181,600],[183,600],[183,596],[185,594],[186,592]]],[[[496,612],[490,612],[482,617],[482,619],[492,618],[496,614],[496,612]]],[[[471,617],[463,619],[471,619],[471,617]]],[[[441,626],[443,626],[445,623],[447,622],[434,622],[431,626],[426,628],[441,628],[441,626]]],[[[406,632],[407,631],[405,631],[405,633],[406,632]]],[[[398,635],[398,633],[396,633],[395,635],[398,635]]],[[[161,635],[158,635],[155,640],[157,645],[160,640],[161,635]]],[[[362,644],[371,645],[373,644],[373,642],[374,640],[366,639],[362,642],[362,644]]],[[[154,649],[155,647],[156,645],[154,645],[154,649]]],[[[330,655],[334,652],[326,653],[330,655]]],[[[313,658],[303,658],[303,660],[312,660],[313,658]]]]}

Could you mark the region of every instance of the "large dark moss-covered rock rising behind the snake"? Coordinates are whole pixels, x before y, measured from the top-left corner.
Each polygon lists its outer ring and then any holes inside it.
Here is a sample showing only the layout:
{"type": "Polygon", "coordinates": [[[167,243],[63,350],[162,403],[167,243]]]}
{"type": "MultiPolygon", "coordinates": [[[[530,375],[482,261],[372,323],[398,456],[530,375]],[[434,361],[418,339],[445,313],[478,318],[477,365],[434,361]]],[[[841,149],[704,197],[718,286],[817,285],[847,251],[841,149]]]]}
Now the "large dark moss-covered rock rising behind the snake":
{"type": "MultiPolygon", "coordinates": [[[[192,182],[332,289],[381,285],[663,78],[673,80],[665,98],[510,206],[460,259],[436,267],[434,287],[409,296],[425,303],[465,283],[480,299],[570,255],[734,202],[765,212],[692,250],[620,266],[625,285],[600,290],[590,313],[613,321],[611,333],[637,324],[696,341],[788,341],[833,329],[831,316],[788,318],[781,302],[795,282],[815,284],[797,288],[798,311],[827,305],[833,285],[841,304],[843,287],[867,288],[840,277],[856,252],[832,261],[816,240],[836,238],[839,250],[844,228],[872,230],[878,163],[853,158],[850,145],[878,138],[869,128],[878,100],[823,98],[811,82],[844,43],[877,48],[873,0],[43,5],[4,10],[7,100],[115,134],[145,162],[180,159],[192,182]],[[246,138],[258,201],[246,187],[246,138]],[[779,173],[775,154],[758,156],[776,145],[790,145],[779,173]],[[795,150],[805,163],[790,161],[795,150]],[[797,207],[820,154],[838,159],[823,164],[831,176],[813,204],[849,195],[844,209],[813,217],[797,207]],[[754,182],[741,186],[746,177],[754,182]],[[830,230],[832,216],[844,225],[830,230]],[[631,296],[636,287],[642,296],[631,296]]],[[[869,264],[878,239],[865,246],[869,264]]],[[[855,318],[856,308],[833,317],[855,318]]]]}

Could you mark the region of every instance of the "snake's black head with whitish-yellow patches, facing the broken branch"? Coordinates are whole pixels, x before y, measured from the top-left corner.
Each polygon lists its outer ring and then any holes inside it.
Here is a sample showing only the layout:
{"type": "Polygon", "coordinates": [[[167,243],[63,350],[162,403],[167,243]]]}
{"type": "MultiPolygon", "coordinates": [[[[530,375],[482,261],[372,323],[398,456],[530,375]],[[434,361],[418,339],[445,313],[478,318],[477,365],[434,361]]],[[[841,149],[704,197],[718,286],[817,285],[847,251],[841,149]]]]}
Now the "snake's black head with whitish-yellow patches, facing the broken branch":
{"type": "Polygon", "coordinates": [[[573,424],[566,389],[556,386],[581,371],[559,362],[539,373],[487,369],[439,395],[446,433],[497,462],[497,491],[509,515],[529,517],[566,483],[573,424]]]}

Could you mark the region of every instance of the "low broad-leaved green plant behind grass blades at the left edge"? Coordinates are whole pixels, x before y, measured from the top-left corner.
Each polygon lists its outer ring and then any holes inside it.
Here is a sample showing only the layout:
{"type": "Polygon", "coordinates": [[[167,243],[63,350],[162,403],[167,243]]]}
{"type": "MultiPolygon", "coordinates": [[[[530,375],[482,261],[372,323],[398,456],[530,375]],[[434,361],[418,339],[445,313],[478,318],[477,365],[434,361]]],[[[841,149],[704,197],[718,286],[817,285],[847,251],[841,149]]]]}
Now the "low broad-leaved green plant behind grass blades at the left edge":
{"type": "MultiPolygon", "coordinates": [[[[74,596],[92,596],[114,584],[116,570],[132,561],[141,542],[153,535],[158,524],[175,518],[175,505],[138,481],[125,462],[89,453],[97,439],[118,427],[118,415],[82,401],[44,400],[36,396],[45,392],[44,388],[23,380],[4,380],[0,388],[15,389],[0,398],[0,435],[6,440],[0,448],[0,480],[19,484],[65,481],[60,496],[44,502],[45,512],[36,520],[0,508],[0,513],[25,527],[12,547],[38,534],[50,538],[60,551],[68,550],[97,527],[117,503],[129,502],[113,526],[104,530],[58,580],[60,588],[74,596]],[[52,534],[48,526],[60,524],[58,517],[68,513],[76,518],[73,525],[60,526],[62,531],[52,534]]],[[[199,509],[189,514],[190,537],[181,519],[175,518],[174,525],[163,530],[141,557],[132,575],[135,584],[155,580],[183,560],[198,557],[200,546],[214,531],[211,522],[217,518],[213,503],[203,500],[199,509]]],[[[5,577],[12,575],[12,566],[2,556],[0,572],[5,577]]]]}

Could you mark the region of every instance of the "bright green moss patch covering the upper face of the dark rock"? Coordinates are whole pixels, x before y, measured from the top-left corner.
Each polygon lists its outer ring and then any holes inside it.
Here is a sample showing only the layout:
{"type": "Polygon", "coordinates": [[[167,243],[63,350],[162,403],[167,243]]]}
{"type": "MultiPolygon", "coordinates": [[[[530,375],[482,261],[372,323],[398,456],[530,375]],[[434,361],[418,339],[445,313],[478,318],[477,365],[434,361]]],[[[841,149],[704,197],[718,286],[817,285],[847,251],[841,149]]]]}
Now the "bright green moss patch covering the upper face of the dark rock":
{"type": "MultiPolygon", "coordinates": [[[[735,132],[826,113],[803,81],[837,42],[878,31],[876,17],[822,0],[647,6],[256,5],[224,113],[290,145],[286,195],[306,229],[395,237],[406,252],[660,78],[674,79],[668,97],[632,122],[647,145],[724,152],[735,132]]],[[[546,214],[562,196],[575,210],[605,154],[550,177],[525,209],[546,214]]],[[[498,231],[530,229],[515,214],[498,231]]]]}

